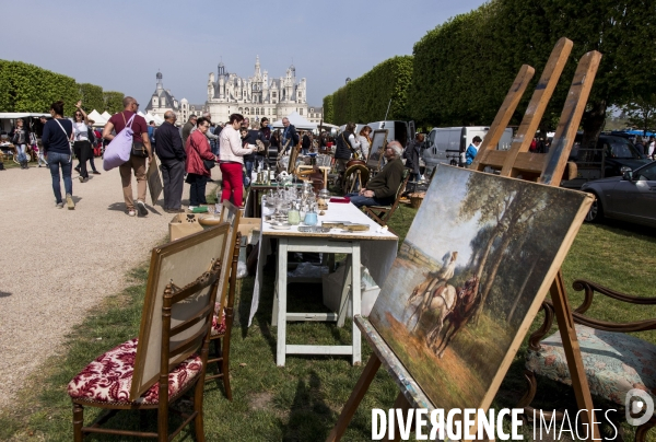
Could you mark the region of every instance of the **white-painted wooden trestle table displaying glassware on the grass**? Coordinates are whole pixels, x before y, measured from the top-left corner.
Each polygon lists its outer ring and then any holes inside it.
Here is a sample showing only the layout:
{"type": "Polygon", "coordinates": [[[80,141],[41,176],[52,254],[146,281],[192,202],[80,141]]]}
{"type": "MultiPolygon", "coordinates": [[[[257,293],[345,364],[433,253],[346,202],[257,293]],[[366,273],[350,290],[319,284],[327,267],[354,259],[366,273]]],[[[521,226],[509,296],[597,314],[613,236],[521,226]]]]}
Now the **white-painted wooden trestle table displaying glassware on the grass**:
{"type": "Polygon", "coordinates": [[[259,306],[259,293],[262,284],[262,267],[270,253],[270,240],[278,240],[278,266],[276,276],[276,292],[273,300],[272,325],[278,326],[277,364],[283,367],[286,354],[351,354],[353,364],[361,361],[360,329],[353,323],[353,341],[350,346],[312,346],[286,345],[288,321],[333,321],[343,326],[348,302],[351,302],[353,315],[360,314],[361,305],[361,264],[366,266],[374,281],[383,287],[394,259],[398,237],[387,231],[379,232],[379,225],[351,203],[329,202],[325,216],[320,216],[319,224],[325,221],[351,221],[368,224],[365,232],[343,232],[332,229],[330,233],[302,233],[297,226],[291,230],[274,230],[262,221],[260,248],[258,255],[257,275],[250,306],[248,325],[259,306]],[[342,299],[338,313],[288,313],[288,253],[340,253],[348,254],[347,277],[342,287],[342,299]],[[348,284],[351,284],[352,296],[348,296],[348,284]]]}

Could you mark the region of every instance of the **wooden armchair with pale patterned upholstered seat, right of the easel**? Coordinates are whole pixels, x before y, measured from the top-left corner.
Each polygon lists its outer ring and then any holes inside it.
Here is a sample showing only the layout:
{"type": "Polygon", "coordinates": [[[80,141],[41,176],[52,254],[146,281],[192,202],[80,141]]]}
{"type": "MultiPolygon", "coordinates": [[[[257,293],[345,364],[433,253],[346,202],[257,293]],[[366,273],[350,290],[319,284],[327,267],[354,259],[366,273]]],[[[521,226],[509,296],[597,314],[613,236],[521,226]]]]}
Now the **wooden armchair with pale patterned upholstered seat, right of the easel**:
{"type": "MultiPolygon", "coordinates": [[[[656,318],[617,324],[585,316],[595,292],[639,305],[656,305],[656,298],[631,296],[583,279],[575,280],[573,287],[576,291],[585,290],[583,304],[573,312],[573,316],[590,393],[624,407],[626,393],[639,388],[656,402],[656,346],[628,335],[656,329],[656,318]]],[[[537,392],[536,374],[566,385],[572,384],[560,333],[542,339],[553,324],[553,305],[546,301],[542,310],[544,323],[529,339],[525,370],[528,392],[518,404],[518,407],[524,407],[526,416],[532,416],[534,408],[530,404],[537,392]]],[[[557,420],[562,418],[559,415],[557,412],[557,420]]],[[[544,412],[544,416],[550,419],[551,412],[544,412]]],[[[656,416],[637,427],[635,440],[644,441],[647,431],[654,426],[656,416]]]]}

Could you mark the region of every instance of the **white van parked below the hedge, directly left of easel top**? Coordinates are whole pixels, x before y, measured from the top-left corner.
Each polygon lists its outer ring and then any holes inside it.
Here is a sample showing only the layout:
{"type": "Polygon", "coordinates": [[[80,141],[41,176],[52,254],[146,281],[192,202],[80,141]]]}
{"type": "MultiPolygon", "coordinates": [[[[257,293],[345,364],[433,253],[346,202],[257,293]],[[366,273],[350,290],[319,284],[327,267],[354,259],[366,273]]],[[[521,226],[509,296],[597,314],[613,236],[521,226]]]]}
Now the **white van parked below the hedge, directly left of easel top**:
{"type": "MultiPolygon", "coordinates": [[[[465,163],[465,151],[471,144],[473,137],[481,139],[490,130],[484,126],[465,127],[437,127],[431,130],[426,140],[426,148],[422,158],[426,167],[435,167],[437,164],[458,165],[465,163]]],[[[499,141],[500,150],[508,150],[513,143],[513,129],[506,128],[499,141]]]]}

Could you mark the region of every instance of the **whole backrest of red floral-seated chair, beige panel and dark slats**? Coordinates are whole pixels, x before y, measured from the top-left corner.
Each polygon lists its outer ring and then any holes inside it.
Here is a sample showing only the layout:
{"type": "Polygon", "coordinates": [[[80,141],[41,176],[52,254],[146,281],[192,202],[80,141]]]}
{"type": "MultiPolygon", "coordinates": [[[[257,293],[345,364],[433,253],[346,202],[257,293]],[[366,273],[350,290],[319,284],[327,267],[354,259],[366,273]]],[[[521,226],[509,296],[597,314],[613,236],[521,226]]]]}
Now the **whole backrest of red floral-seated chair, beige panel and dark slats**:
{"type": "Polygon", "coordinates": [[[207,311],[213,313],[221,270],[230,268],[230,260],[224,260],[225,247],[230,243],[229,230],[229,223],[221,223],[153,249],[130,400],[137,400],[160,379],[165,334],[169,335],[166,339],[169,342],[168,351],[174,350],[173,356],[167,358],[171,367],[185,360],[202,344],[200,337],[211,326],[212,317],[210,315],[207,321],[207,311]],[[201,283],[200,280],[206,282],[201,283]],[[183,295],[179,294],[181,290],[185,293],[183,295]],[[161,313],[166,294],[175,301],[168,310],[169,327],[163,323],[161,313]],[[181,326],[183,323],[187,325],[181,326]],[[171,334],[171,329],[175,333],[171,334]]]}

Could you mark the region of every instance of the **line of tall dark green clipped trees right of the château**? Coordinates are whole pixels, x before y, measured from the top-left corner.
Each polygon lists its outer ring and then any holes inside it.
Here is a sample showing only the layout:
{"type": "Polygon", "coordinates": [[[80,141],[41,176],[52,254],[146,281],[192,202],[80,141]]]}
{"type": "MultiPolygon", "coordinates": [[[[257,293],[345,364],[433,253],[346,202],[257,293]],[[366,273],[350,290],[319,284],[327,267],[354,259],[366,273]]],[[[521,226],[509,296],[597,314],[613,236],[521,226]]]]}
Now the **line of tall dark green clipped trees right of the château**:
{"type": "MultiPolygon", "coordinates": [[[[542,119],[543,129],[555,128],[576,63],[589,50],[600,51],[602,59],[582,120],[586,136],[602,130],[610,106],[655,96],[654,0],[492,0],[452,18],[417,42],[413,56],[406,57],[411,68],[405,85],[395,78],[382,88],[371,75],[387,60],[328,95],[325,104],[331,97],[332,115],[326,119],[335,124],[382,119],[374,103],[386,105],[393,96],[388,88],[394,85],[398,90],[395,118],[407,116],[418,127],[490,125],[520,66],[536,68],[530,91],[563,36],[574,42],[574,48],[542,119]],[[361,91],[373,96],[364,100],[361,91]],[[338,96],[340,103],[353,103],[354,109],[338,107],[338,96]]],[[[520,123],[530,95],[527,91],[512,125],[520,123]]]]}

